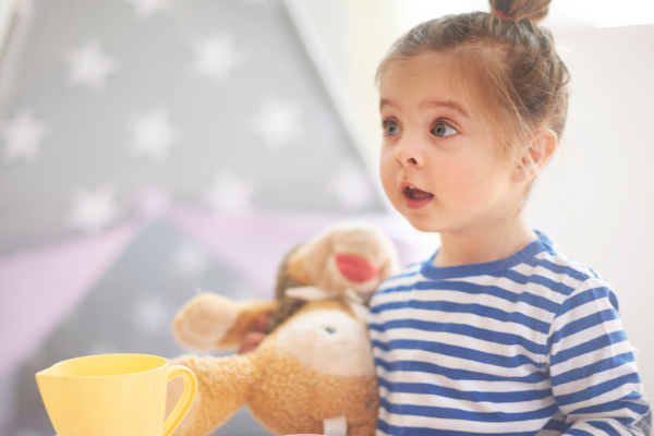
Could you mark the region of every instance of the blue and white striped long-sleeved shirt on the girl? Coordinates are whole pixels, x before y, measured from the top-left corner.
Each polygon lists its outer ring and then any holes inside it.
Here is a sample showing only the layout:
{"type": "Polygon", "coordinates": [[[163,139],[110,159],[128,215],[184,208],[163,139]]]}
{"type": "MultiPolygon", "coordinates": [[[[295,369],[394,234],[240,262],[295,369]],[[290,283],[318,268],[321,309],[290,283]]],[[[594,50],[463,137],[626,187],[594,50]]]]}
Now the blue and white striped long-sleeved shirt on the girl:
{"type": "Polygon", "coordinates": [[[642,435],[650,402],[610,284],[542,232],[497,262],[388,279],[371,301],[377,435],[642,435]]]}

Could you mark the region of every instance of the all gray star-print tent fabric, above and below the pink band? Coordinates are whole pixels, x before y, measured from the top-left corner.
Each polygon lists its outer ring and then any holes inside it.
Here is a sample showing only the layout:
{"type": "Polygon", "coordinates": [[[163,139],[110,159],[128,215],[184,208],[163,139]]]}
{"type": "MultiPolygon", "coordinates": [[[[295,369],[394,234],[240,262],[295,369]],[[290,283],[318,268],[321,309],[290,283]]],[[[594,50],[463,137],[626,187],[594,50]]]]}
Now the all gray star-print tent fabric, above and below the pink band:
{"type": "MultiPolygon", "coordinates": [[[[173,204],[233,214],[384,211],[282,3],[32,4],[9,35],[12,56],[0,59],[13,80],[0,101],[0,261],[111,228],[152,189],[173,204]]],[[[187,352],[170,322],[197,287],[259,296],[154,221],[29,362],[0,380],[0,434],[53,434],[34,374],[58,361],[187,352]]],[[[241,411],[215,434],[267,432],[241,411]]]]}

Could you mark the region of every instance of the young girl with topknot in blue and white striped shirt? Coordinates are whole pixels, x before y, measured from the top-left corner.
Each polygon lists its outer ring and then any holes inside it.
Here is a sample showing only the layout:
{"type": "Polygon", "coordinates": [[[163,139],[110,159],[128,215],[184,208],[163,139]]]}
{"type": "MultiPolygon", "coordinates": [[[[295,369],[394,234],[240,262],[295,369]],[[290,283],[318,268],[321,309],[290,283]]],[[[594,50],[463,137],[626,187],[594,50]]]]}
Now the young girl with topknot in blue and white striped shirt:
{"type": "Polygon", "coordinates": [[[443,242],[371,301],[379,435],[650,434],[611,286],[522,214],[568,107],[548,3],[423,23],[379,66],[384,189],[443,242]]]}

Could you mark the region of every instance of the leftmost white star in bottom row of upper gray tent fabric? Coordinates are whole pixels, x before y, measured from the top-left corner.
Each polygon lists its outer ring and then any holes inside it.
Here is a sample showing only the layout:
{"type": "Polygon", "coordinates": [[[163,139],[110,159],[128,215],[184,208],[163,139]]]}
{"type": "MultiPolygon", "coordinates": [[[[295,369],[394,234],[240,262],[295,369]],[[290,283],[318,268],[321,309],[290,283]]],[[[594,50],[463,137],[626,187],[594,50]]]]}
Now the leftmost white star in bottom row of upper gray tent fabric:
{"type": "Polygon", "coordinates": [[[100,186],[95,191],[77,189],[73,194],[70,222],[73,228],[88,232],[107,227],[119,216],[113,189],[100,186]]]}

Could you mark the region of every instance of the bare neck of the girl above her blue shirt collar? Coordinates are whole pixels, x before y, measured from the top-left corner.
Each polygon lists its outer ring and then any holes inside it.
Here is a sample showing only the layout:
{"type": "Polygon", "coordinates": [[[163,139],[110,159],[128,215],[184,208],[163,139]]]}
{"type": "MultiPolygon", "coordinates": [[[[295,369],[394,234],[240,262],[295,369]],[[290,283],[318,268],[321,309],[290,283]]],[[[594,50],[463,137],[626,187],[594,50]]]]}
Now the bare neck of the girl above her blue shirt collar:
{"type": "Polygon", "coordinates": [[[495,262],[523,249],[538,235],[520,214],[509,226],[440,233],[434,266],[448,267],[495,262]]]}

